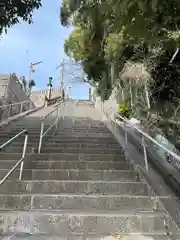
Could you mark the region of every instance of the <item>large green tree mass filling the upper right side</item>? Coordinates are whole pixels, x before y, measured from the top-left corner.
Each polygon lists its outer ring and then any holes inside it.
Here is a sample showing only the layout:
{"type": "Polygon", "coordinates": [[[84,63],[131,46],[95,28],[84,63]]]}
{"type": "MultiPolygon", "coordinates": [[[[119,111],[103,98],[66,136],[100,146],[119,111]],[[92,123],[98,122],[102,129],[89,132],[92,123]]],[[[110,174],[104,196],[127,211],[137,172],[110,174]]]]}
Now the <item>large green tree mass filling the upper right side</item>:
{"type": "Polygon", "coordinates": [[[102,100],[118,86],[123,103],[133,105],[144,122],[152,113],[168,135],[180,120],[180,61],[169,64],[180,47],[180,1],[63,0],[60,21],[74,26],[65,52],[96,83],[102,100]]]}

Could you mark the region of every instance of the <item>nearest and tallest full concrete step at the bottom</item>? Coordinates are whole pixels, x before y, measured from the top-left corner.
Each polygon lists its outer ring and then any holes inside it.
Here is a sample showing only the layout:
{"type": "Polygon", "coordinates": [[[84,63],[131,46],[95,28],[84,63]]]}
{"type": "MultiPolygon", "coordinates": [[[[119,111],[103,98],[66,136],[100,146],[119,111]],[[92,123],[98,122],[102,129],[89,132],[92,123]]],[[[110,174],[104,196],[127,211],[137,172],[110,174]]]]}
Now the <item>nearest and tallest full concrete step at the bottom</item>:
{"type": "MultiPolygon", "coordinates": [[[[64,214],[4,212],[1,213],[0,227],[4,235],[10,233],[18,235],[18,233],[21,233],[22,239],[24,233],[23,239],[26,239],[26,237],[31,239],[32,237],[33,240],[102,240],[97,237],[101,235],[109,236],[115,233],[121,233],[122,235],[127,233],[158,235],[163,237],[163,239],[160,238],[159,240],[169,240],[165,236],[166,230],[164,227],[164,220],[167,219],[163,214],[149,214],[149,216],[145,214],[117,214],[113,216],[109,214],[98,215],[93,212],[92,214],[75,212],[66,212],[64,214]],[[33,235],[35,238],[33,238],[33,235]],[[46,238],[46,235],[48,235],[48,238],[46,238]]],[[[171,220],[169,225],[170,230],[177,232],[171,220]]]]}

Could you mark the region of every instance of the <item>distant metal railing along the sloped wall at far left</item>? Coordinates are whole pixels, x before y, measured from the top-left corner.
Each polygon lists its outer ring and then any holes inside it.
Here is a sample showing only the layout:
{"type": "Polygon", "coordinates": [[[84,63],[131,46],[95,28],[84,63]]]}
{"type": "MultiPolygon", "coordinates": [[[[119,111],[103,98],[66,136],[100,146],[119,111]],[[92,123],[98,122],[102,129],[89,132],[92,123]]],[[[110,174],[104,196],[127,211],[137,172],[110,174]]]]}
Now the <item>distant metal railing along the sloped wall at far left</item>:
{"type": "Polygon", "coordinates": [[[0,121],[21,114],[22,112],[29,111],[32,108],[33,103],[31,100],[2,105],[0,106],[0,121]]]}

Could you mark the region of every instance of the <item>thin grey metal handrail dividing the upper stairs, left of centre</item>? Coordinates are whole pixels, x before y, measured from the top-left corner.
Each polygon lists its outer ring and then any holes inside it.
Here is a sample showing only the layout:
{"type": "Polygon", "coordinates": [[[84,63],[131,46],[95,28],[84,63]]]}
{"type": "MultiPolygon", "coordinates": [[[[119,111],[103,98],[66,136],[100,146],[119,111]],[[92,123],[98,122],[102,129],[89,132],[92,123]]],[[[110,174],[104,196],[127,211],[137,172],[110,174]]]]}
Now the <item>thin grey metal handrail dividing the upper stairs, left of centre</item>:
{"type": "Polygon", "coordinates": [[[42,140],[43,140],[43,137],[49,132],[49,130],[56,124],[56,129],[57,129],[57,123],[59,122],[59,108],[61,106],[62,103],[65,103],[66,100],[63,100],[62,102],[59,103],[59,105],[54,108],[51,112],[49,112],[48,114],[44,115],[41,119],[41,131],[40,131],[40,137],[39,137],[39,147],[38,147],[38,153],[41,152],[41,147],[42,147],[42,140]],[[44,121],[45,119],[52,115],[54,112],[57,112],[57,116],[54,120],[54,122],[52,124],[50,124],[49,128],[44,132],[44,121]]]}

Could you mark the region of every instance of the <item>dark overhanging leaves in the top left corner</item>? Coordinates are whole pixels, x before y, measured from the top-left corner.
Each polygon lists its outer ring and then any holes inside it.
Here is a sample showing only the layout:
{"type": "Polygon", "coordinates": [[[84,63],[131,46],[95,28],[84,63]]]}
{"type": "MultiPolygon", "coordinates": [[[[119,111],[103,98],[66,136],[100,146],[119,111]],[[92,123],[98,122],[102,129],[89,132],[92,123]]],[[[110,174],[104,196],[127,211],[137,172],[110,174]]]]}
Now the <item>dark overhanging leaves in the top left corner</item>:
{"type": "Polygon", "coordinates": [[[1,0],[0,35],[3,31],[23,21],[32,23],[32,12],[41,7],[41,0],[1,0]]]}

